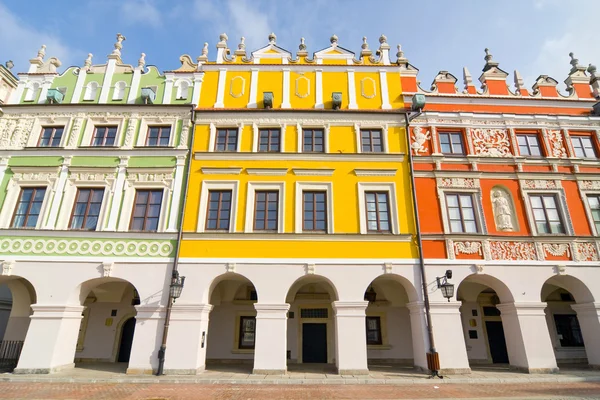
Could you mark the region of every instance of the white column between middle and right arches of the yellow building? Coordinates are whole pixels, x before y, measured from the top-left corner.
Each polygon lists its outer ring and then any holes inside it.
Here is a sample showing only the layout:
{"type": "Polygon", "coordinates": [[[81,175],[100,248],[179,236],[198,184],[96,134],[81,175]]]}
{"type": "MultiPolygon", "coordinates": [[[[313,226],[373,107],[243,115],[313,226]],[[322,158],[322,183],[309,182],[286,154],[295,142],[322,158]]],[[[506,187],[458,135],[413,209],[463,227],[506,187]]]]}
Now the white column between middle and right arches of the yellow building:
{"type": "Polygon", "coordinates": [[[340,375],[367,375],[365,310],[368,301],[334,301],[335,363],[340,375]]]}

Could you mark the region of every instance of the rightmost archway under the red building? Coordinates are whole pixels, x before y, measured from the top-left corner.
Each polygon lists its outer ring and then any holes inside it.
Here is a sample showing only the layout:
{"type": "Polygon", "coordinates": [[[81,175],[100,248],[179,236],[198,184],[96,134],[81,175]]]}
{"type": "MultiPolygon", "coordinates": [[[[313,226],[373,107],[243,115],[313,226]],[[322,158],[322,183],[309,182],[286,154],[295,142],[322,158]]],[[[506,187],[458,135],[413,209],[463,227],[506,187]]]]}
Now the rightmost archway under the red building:
{"type": "Polygon", "coordinates": [[[598,318],[595,324],[593,318],[582,321],[577,311],[582,304],[594,302],[588,287],[572,276],[553,276],[542,286],[541,300],[546,303],[546,322],[558,366],[587,366],[589,358],[593,363],[594,347],[600,342],[598,318]]]}

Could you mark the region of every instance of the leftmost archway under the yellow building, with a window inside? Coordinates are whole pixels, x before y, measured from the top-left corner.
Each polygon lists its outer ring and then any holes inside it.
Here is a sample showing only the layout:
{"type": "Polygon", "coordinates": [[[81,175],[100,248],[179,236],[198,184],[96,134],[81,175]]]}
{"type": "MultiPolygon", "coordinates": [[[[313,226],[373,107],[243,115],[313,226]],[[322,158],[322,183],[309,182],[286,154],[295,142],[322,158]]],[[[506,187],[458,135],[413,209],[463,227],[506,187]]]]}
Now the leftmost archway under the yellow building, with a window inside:
{"type": "Polygon", "coordinates": [[[227,273],[213,281],[209,291],[213,309],[206,338],[207,369],[252,372],[257,301],[254,284],[243,275],[227,273]]]}

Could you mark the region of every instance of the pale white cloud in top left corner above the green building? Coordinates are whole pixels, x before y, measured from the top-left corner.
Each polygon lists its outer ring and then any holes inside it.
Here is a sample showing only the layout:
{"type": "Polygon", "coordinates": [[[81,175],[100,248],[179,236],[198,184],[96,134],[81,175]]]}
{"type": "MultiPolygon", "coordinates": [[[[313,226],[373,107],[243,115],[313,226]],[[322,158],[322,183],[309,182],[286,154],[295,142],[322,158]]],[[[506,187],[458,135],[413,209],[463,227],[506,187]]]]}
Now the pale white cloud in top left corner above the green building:
{"type": "Polygon", "coordinates": [[[27,24],[1,3],[0,21],[2,21],[0,23],[2,53],[7,60],[10,58],[14,61],[13,73],[27,72],[29,59],[37,55],[37,51],[43,44],[46,45],[45,59],[57,57],[62,62],[60,70],[74,65],[83,54],[83,52],[73,50],[64,44],[57,36],[27,24]]]}

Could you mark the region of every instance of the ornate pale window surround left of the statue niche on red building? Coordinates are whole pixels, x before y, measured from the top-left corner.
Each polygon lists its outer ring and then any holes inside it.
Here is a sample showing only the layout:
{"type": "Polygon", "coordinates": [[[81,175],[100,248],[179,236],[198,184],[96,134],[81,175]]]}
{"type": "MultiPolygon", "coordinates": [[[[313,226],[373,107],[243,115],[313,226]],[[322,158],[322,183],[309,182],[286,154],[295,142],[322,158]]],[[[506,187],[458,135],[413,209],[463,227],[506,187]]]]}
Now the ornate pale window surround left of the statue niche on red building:
{"type": "MultiPolygon", "coordinates": [[[[446,192],[451,193],[471,193],[473,195],[473,211],[480,229],[480,234],[487,235],[487,225],[485,214],[483,212],[481,186],[477,178],[436,178],[437,193],[440,200],[440,209],[442,212],[442,222],[444,233],[450,234],[450,221],[448,220],[448,206],[446,204],[446,192]]],[[[460,234],[459,234],[460,235],[460,234]]],[[[471,233],[472,235],[472,233],[471,233]]]]}

